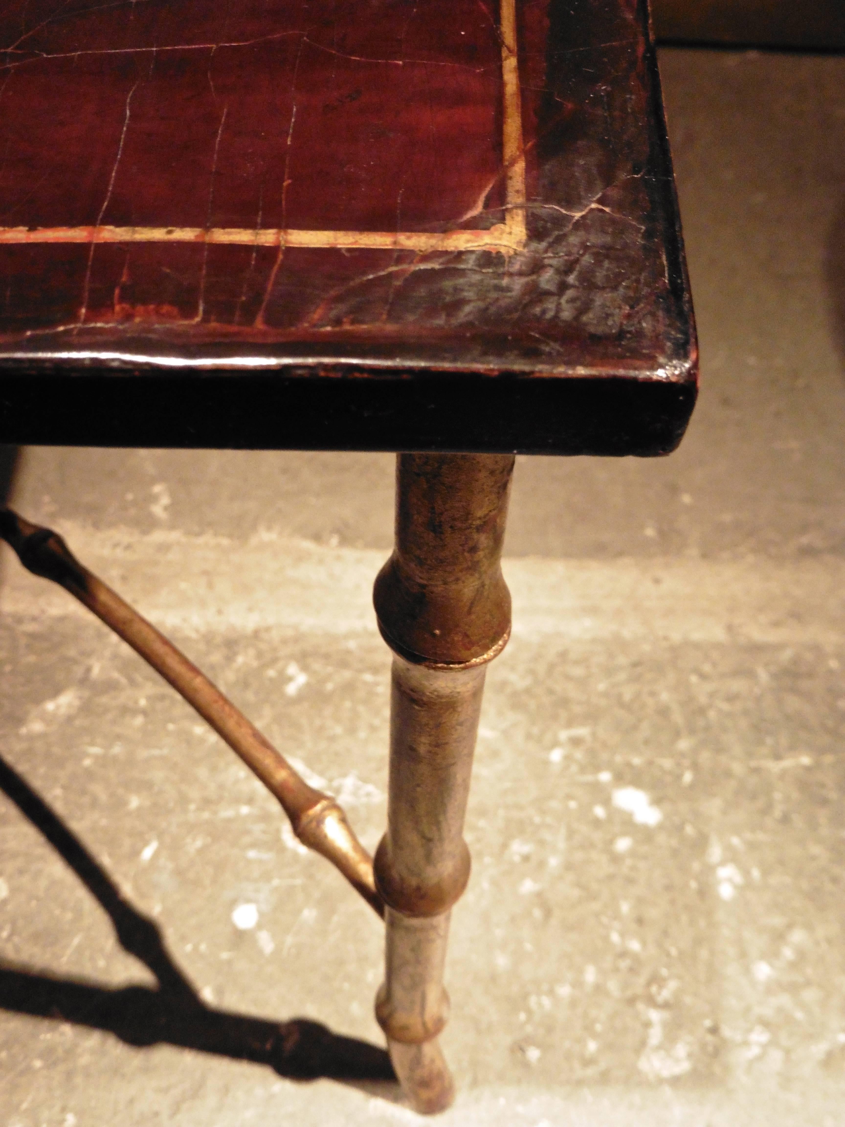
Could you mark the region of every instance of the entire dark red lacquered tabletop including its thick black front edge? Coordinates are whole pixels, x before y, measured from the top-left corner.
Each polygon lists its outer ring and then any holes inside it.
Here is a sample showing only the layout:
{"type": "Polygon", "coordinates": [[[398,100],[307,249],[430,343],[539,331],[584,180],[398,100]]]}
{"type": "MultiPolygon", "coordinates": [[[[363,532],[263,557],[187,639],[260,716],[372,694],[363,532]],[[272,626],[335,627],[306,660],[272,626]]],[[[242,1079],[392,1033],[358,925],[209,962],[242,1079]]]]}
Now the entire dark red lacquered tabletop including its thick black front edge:
{"type": "Polygon", "coordinates": [[[18,0],[0,441],[664,453],[696,353],[638,0],[18,0]]]}

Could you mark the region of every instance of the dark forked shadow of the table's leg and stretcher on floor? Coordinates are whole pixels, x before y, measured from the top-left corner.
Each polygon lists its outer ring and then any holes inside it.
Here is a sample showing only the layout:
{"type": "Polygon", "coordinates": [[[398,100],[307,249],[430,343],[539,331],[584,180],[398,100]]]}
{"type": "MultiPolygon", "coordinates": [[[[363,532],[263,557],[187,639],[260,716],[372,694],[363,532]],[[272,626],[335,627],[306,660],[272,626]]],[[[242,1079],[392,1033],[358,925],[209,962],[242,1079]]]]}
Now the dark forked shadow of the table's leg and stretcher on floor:
{"type": "Polygon", "coordinates": [[[398,1098],[384,1049],[294,1018],[277,1023],[208,1008],[174,964],[158,925],[121,895],[97,861],[28,783],[0,758],[0,789],[41,831],[112,917],[123,948],[153,973],[159,988],[108,988],[0,964],[0,1009],[103,1029],[127,1045],[167,1044],[269,1065],[279,1076],[341,1081],[398,1098]],[[385,1086],[390,1085],[390,1086],[385,1086]]]}

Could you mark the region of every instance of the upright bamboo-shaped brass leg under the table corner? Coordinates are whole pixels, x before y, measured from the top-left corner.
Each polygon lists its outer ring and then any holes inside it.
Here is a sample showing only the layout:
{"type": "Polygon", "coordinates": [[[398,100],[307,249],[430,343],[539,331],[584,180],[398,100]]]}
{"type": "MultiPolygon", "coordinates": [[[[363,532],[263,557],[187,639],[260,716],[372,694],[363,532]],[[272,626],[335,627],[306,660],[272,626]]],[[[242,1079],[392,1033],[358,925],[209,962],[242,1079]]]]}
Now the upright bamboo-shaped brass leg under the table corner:
{"type": "Polygon", "coordinates": [[[484,666],[510,631],[499,559],[513,455],[400,454],[395,548],[375,583],[394,651],[388,832],[375,857],[385,909],[376,1017],[418,1111],[448,1107],[437,1035],[448,997],[450,909],[470,875],[463,820],[484,666]]]}

